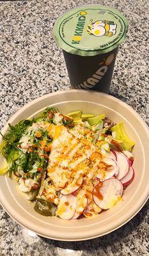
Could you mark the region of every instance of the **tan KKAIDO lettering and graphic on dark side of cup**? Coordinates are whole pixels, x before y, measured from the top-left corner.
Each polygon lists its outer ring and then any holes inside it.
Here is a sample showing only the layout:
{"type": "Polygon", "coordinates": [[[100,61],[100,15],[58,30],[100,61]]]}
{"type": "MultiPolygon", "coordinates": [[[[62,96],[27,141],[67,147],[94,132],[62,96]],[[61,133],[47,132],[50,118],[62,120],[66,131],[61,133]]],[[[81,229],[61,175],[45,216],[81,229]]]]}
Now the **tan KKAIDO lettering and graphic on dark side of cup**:
{"type": "Polygon", "coordinates": [[[111,53],[106,60],[99,63],[98,69],[96,72],[92,75],[92,77],[89,77],[86,81],[84,81],[81,84],[78,84],[75,86],[76,89],[92,89],[99,81],[102,79],[102,77],[106,74],[108,70],[108,66],[112,63],[112,61],[115,58],[115,54],[111,53]]]}

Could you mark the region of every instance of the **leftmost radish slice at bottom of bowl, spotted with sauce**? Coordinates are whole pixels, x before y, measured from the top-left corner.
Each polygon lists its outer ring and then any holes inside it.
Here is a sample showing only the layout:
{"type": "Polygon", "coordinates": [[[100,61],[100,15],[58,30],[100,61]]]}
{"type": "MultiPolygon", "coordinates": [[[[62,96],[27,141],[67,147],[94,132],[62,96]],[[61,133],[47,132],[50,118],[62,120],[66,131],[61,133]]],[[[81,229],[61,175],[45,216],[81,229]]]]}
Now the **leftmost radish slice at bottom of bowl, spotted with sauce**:
{"type": "Polygon", "coordinates": [[[57,215],[64,220],[73,218],[76,211],[76,197],[73,195],[62,195],[57,207],[57,215]]]}

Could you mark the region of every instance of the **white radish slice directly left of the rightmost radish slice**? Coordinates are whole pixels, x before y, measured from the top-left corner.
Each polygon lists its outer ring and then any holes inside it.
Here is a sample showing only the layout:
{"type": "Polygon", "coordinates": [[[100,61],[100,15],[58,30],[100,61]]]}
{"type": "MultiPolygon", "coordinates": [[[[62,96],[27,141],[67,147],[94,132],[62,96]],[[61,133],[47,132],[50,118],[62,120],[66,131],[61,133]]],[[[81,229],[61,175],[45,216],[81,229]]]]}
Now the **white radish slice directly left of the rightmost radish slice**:
{"type": "Polygon", "coordinates": [[[121,180],[129,171],[129,159],[123,153],[117,152],[118,175],[117,179],[121,180]]]}

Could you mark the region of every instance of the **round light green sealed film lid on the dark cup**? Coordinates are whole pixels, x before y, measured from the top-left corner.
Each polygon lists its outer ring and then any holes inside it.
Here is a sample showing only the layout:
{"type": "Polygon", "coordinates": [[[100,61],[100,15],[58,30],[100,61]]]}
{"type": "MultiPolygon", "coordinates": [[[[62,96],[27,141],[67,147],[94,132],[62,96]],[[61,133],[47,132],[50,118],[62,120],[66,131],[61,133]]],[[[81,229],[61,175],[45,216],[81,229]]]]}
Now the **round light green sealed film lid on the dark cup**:
{"type": "Polygon", "coordinates": [[[110,52],[122,44],[128,22],[109,6],[78,6],[56,20],[53,35],[66,52],[81,56],[95,56],[110,52]]]}

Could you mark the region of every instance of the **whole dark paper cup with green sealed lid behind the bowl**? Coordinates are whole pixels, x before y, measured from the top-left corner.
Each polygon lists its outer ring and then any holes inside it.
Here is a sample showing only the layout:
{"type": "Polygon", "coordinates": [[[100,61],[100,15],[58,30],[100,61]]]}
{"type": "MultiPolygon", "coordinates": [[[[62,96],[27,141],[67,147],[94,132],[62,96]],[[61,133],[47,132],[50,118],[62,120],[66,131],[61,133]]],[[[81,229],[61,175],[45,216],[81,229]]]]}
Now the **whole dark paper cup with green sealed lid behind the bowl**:
{"type": "Polygon", "coordinates": [[[110,6],[78,6],[57,19],[53,35],[62,48],[72,88],[108,93],[127,19],[110,6]]]}

